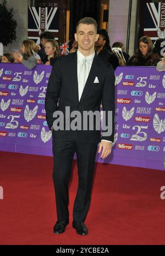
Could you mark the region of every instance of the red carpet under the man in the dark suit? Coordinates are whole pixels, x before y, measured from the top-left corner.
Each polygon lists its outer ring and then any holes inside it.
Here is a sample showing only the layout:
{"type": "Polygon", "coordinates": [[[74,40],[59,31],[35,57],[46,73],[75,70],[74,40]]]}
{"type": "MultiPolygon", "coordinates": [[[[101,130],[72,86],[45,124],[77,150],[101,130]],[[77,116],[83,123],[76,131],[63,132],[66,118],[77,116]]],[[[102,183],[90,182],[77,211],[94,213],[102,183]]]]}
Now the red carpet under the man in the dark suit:
{"type": "MultiPolygon", "coordinates": [[[[53,158],[0,152],[0,244],[165,244],[165,172],[97,163],[88,236],[72,228],[78,185],[74,164],[70,185],[70,223],[61,235],[56,222],[53,158]]],[[[75,162],[74,162],[75,163],[75,162]]]]}

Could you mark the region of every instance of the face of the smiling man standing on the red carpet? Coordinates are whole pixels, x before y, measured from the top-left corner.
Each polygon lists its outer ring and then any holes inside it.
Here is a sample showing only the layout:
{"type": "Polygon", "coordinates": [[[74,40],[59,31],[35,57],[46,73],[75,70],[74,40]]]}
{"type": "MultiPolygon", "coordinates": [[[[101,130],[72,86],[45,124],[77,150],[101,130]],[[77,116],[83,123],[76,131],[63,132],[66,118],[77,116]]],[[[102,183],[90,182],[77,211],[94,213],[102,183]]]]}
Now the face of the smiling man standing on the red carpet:
{"type": "Polygon", "coordinates": [[[75,33],[75,40],[78,41],[79,50],[89,51],[94,49],[98,36],[94,24],[80,23],[75,33]]]}

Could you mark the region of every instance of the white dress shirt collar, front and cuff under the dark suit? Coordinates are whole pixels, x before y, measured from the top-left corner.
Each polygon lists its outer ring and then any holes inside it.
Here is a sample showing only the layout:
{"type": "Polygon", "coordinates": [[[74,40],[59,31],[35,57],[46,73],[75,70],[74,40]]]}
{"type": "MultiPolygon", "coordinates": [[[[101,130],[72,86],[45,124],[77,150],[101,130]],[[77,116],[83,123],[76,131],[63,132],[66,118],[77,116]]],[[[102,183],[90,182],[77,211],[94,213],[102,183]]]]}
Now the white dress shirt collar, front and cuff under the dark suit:
{"type": "MultiPolygon", "coordinates": [[[[86,58],[86,76],[85,76],[85,83],[86,83],[87,77],[89,76],[89,73],[90,73],[90,70],[91,70],[92,61],[94,60],[94,57],[95,57],[95,51],[94,51],[93,54],[91,54],[89,56],[84,56],[78,50],[77,55],[78,55],[78,86],[80,86],[80,84],[79,84],[79,74],[80,74],[80,70],[81,70],[81,65],[83,64],[84,58],[86,58]]],[[[85,86],[85,84],[84,84],[84,86],[85,86]]],[[[102,140],[102,141],[108,141],[108,140],[102,140]]],[[[111,142],[111,141],[108,141],[108,142],[111,142]]]]}

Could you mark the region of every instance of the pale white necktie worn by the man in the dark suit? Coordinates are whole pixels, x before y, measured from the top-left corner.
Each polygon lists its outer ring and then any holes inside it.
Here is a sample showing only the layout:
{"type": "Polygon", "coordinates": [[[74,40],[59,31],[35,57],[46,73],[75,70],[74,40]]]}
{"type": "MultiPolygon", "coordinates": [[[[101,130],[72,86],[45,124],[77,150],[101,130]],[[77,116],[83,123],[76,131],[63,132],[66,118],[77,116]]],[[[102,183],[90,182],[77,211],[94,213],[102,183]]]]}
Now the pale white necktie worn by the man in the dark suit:
{"type": "Polygon", "coordinates": [[[81,98],[81,95],[83,93],[84,90],[84,86],[85,86],[85,82],[86,82],[86,58],[84,58],[83,63],[81,65],[80,68],[80,72],[79,72],[79,81],[78,81],[78,87],[79,87],[79,101],[81,98]]]}

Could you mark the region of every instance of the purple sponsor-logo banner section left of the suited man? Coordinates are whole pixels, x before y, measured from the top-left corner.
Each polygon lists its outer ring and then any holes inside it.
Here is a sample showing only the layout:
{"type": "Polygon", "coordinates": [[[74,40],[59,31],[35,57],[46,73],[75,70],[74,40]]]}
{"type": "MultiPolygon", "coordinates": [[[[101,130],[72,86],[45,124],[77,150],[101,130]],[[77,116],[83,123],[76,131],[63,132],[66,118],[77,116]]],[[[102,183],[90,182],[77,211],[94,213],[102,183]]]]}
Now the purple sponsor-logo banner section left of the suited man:
{"type": "Polygon", "coordinates": [[[51,155],[44,108],[51,70],[0,63],[0,150],[51,155]]]}

